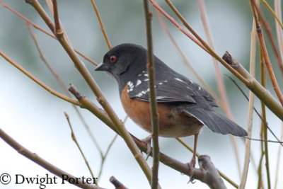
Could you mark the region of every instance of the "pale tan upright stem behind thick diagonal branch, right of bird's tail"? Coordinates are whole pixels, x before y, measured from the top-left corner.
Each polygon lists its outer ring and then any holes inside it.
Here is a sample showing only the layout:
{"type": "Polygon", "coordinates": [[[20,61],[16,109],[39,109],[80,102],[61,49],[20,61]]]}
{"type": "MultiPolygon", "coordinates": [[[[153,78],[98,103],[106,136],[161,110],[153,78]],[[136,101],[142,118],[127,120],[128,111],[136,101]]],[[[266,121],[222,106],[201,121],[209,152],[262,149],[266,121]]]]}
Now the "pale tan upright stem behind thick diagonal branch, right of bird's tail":
{"type": "MultiPolygon", "coordinates": [[[[255,76],[255,47],[256,47],[256,38],[255,38],[255,20],[253,20],[253,28],[250,36],[250,75],[255,76]]],[[[253,104],[255,95],[252,91],[249,92],[249,101],[248,101],[248,137],[251,138],[252,128],[253,128],[253,104]]],[[[241,178],[241,183],[239,189],[244,189],[246,186],[246,181],[248,178],[248,168],[250,164],[250,139],[246,139],[246,151],[245,151],[245,162],[243,165],[243,173],[241,178]]]]}

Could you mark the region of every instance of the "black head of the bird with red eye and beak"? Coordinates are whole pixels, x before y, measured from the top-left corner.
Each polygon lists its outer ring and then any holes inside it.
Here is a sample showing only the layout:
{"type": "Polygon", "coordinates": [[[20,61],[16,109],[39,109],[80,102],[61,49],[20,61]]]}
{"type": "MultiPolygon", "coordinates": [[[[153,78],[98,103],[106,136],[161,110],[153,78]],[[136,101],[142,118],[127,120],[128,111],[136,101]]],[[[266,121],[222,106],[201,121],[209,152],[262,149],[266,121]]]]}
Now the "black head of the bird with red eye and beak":
{"type": "Polygon", "coordinates": [[[95,71],[108,71],[115,77],[119,88],[129,79],[146,70],[146,50],[140,45],[125,43],[109,50],[95,71]]]}

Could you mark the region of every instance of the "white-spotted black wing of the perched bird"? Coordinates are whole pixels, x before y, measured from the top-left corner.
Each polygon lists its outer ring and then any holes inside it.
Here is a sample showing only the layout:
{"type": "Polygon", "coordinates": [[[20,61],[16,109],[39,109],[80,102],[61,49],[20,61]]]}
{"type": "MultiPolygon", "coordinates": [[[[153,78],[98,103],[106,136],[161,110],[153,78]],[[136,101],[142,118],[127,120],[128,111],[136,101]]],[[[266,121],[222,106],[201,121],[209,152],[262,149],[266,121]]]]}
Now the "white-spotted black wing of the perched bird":
{"type": "MultiPolygon", "coordinates": [[[[128,81],[127,88],[130,98],[149,101],[149,77],[146,71],[139,74],[136,81],[128,81]]],[[[159,103],[187,102],[196,103],[197,97],[212,106],[217,106],[214,98],[198,84],[182,75],[156,76],[156,101],[159,103]]]]}

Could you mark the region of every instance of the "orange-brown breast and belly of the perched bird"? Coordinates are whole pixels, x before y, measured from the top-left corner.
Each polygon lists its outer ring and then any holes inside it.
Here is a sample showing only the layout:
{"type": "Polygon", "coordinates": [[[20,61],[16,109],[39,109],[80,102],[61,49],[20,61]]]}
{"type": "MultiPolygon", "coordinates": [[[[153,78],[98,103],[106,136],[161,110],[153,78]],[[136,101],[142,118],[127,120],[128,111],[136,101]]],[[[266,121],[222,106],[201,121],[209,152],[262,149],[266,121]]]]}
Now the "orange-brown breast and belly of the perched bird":
{"type": "MultiPolygon", "coordinates": [[[[149,102],[131,99],[127,86],[122,90],[121,101],[129,118],[147,132],[151,132],[149,102]]],[[[161,137],[185,137],[200,132],[203,126],[197,119],[179,113],[173,103],[158,103],[159,135],[161,137]]]]}

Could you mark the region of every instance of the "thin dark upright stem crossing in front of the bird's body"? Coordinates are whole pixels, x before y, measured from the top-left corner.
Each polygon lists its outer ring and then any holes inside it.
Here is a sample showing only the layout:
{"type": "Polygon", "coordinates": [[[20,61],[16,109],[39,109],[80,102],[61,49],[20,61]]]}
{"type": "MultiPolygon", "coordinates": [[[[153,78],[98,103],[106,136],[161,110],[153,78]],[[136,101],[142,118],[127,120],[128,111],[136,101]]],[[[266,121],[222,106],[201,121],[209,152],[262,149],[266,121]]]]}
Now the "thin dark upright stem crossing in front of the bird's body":
{"type": "Polygon", "coordinates": [[[152,13],[149,11],[149,2],[144,0],[144,15],[146,20],[146,39],[147,39],[147,71],[149,73],[149,96],[151,108],[151,136],[153,141],[153,158],[151,188],[158,188],[158,166],[159,166],[159,145],[158,145],[158,113],[156,103],[155,74],[154,74],[154,54],[151,35],[152,13]]]}

